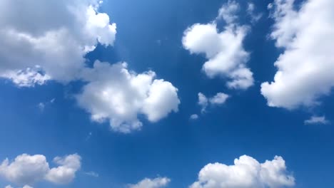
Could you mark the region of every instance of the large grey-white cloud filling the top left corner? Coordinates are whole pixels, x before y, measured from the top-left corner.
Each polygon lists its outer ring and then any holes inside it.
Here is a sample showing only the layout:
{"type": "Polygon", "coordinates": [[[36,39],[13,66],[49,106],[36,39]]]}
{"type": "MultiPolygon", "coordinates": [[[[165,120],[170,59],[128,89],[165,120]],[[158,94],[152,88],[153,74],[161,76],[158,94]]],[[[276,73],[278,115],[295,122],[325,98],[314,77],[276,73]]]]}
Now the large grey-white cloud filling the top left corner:
{"type": "Polygon", "coordinates": [[[116,24],[97,0],[0,2],[0,77],[19,86],[76,79],[98,43],[113,45],[116,24]],[[20,6],[17,6],[20,4],[20,6]]]}

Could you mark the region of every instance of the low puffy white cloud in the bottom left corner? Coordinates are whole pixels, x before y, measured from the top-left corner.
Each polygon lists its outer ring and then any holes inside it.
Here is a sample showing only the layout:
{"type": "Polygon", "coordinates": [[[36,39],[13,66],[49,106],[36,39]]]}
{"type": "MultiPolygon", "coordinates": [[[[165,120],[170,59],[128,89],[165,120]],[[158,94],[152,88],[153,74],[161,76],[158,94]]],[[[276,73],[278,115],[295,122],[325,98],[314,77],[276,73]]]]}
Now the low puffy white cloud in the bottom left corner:
{"type": "Polygon", "coordinates": [[[68,184],[76,177],[81,167],[81,157],[77,154],[55,157],[58,167],[50,168],[44,155],[22,154],[10,162],[4,160],[0,164],[0,177],[19,185],[31,185],[40,181],[55,184],[68,184]]]}

